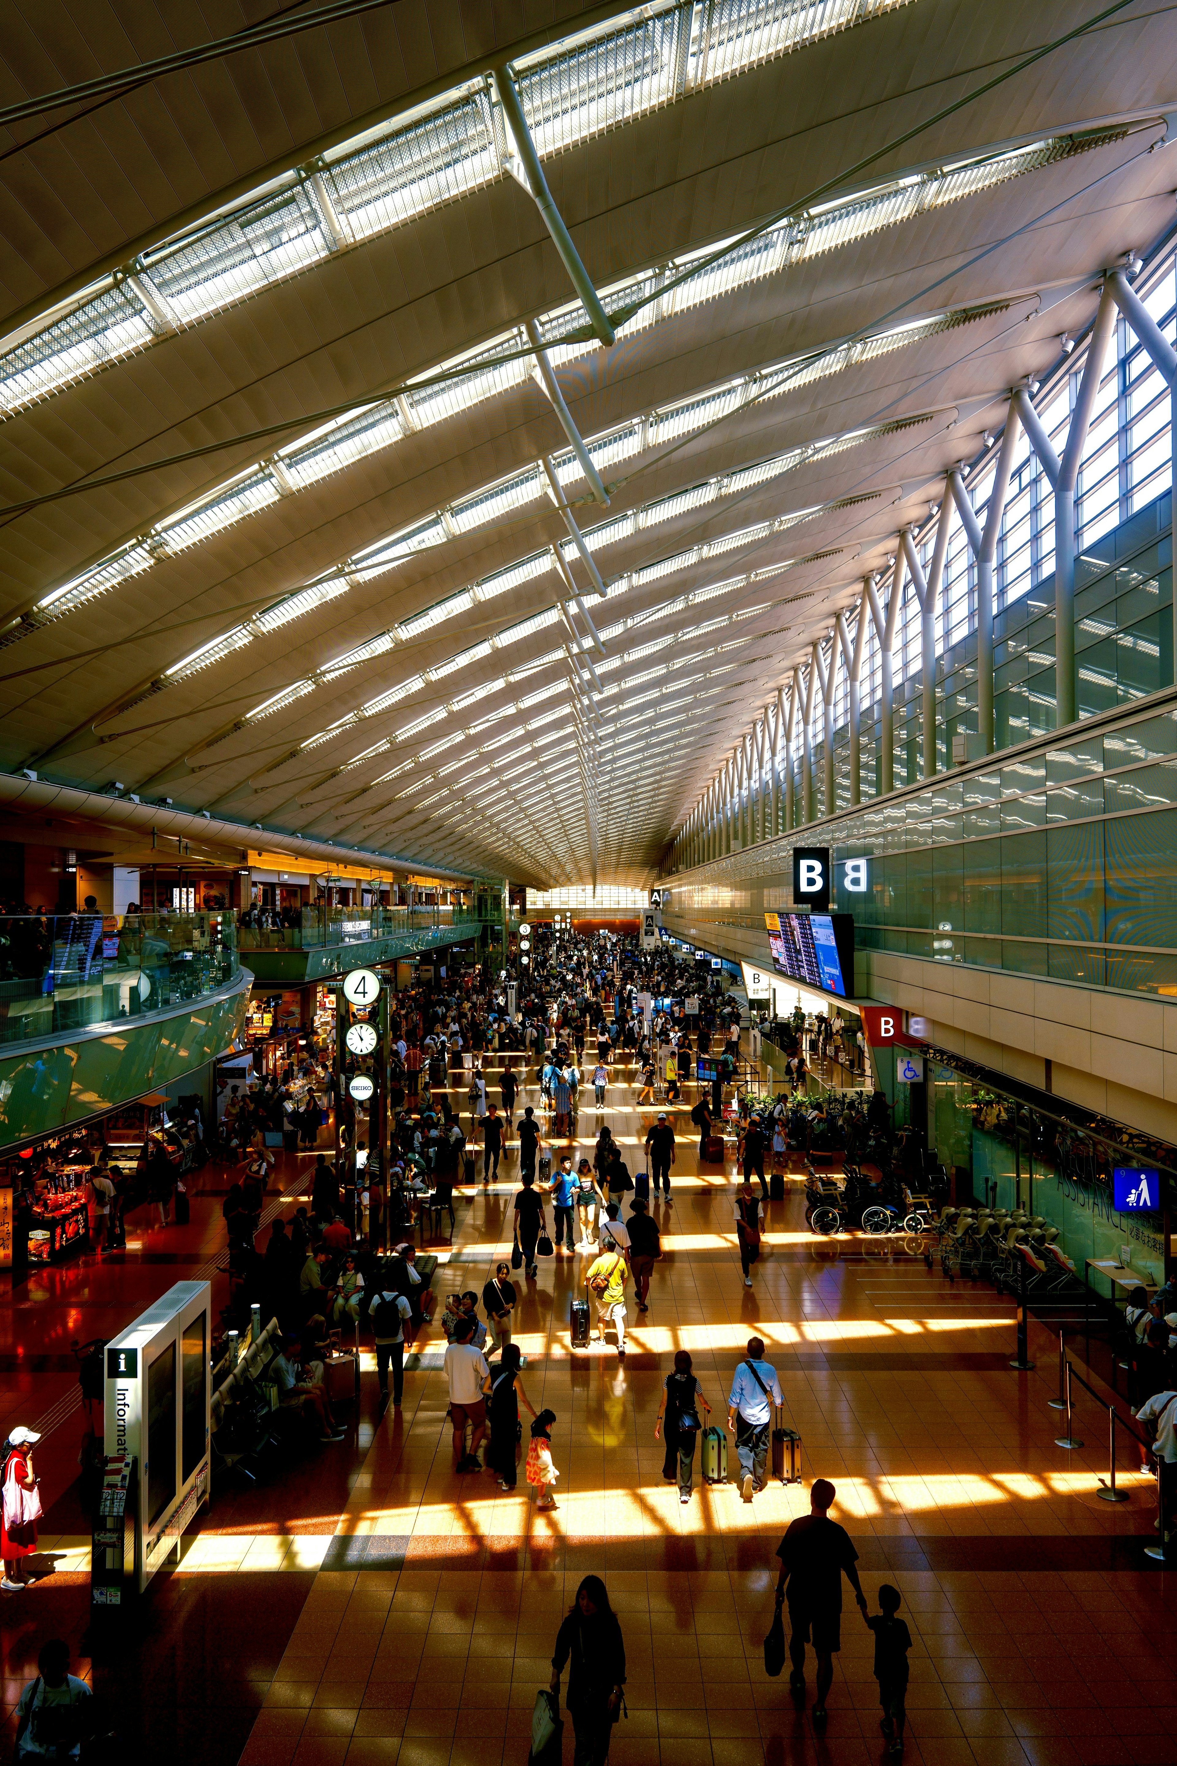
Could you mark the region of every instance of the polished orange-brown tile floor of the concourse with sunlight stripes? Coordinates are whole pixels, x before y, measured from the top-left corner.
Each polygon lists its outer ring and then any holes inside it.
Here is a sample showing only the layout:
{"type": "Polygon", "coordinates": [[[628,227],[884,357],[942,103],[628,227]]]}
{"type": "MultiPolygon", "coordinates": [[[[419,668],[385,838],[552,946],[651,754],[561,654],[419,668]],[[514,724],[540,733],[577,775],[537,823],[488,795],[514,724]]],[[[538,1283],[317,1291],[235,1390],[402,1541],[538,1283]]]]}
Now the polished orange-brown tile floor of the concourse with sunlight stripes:
{"type": "MultiPolygon", "coordinates": [[[[637,1111],[633,1095],[619,1083],[603,1114],[582,1109],[575,1146],[588,1150],[609,1120],[641,1169],[655,1113],[637,1111]]],[[[528,1088],[522,1102],[535,1100],[528,1088]]],[[[909,1761],[1177,1762],[1177,1579],[1142,1556],[1156,1536],[1152,1485],[1124,1453],[1131,1501],[1098,1499],[1106,1460],[1094,1408],[1076,1420],[1087,1448],[1053,1445],[1050,1339],[1034,1335],[1034,1374],[1011,1372],[1008,1302],[985,1286],[948,1287],[902,1240],[813,1240],[799,1176],[769,1210],[766,1252],[745,1289],[731,1150],[725,1171],[699,1171],[692,1100],[678,1116],[674,1204],[655,1208],[665,1257],[649,1314],[630,1302],[625,1367],[612,1346],[577,1356],[568,1347],[581,1257],[542,1261],[526,1284],[517,1339],[528,1395],[558,1416],[556,1513],[536,1513],[522,1483],[508,1498],[485,1475],[452,1473],[436,1347],[424,1346],[404,1409],[383,1422],[365,1356],[348,1441],[265,1487],[219,1491],[180,1572],[157,1579],[127,1649],[83,1630],[71,1492],[83,1418],[67,1409],[42,1468],[60,1489],[42,1536],[46,1566],[58,1568],[18,1596],[19,1612],[0,1607],[9,1709],[37,1642],[56,1628],[86,1665],[94,1642],[95,1683],[125,1694],[129,1727],[152,1757],[166,1747],[169,1759],[210,1766],[522,1762],[559,1616],[595,1570],[628,1651],[630,1715],[614,1766],[879,1761],[870,1635],[852,1604],[824,1736],[762,1667],[775,1549],[824,1475],[838,1487],[835,1513],[858,1543],[872,1609],[879,1582],[903,1593],[914,1637],[909,1761]],[[773,1483],[753,1505],[734,1483],[704,1487],[681,1506],[653,1439],[671,1355],[690,1349],[722,1411],[753,1332],[801,1430],[805,1485],[773,1483]]],[[[452,1250],[436,1247],[448,1256],[441,1291],[448,1275],[480,1289],[508,1247],[515,1174],[512,1144],[501,1181],[459,1210],[452,1250]]],[[[205,1174],[206,1192],[224,1185],[222,1173],[205,1174]]],[[[293,1208],[293,1158],[279,1167],[281,1185],[293,1208]]],[[[86,1261],[16,1289],[0,1369],[34,1351],[51,1365],[0,1372],[7,1423],[69,1404],[60,1358],[71,1335],[108,1335],[214,1259],[219,1208],[219,1196],[198,1194],[191,1227],[143,1226],[125,1268],[86,1261]]]]}

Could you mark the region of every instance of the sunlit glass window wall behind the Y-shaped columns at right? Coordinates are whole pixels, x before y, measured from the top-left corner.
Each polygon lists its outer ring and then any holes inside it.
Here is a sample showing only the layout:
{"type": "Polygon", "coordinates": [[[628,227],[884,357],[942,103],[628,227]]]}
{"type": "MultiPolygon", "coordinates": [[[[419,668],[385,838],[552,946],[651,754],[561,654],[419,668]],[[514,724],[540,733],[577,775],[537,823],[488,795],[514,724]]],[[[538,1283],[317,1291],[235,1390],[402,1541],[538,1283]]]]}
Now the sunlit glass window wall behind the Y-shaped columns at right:
{"type": "MultiPolygon", "coordinates": [[[[1173,261],[1142,297],[1145,307],[1175,341],[1177,286],[1173,261]]],[[[1043,427],[1062,452],[1078,394],[1082,362],[1061,390],[1039,410],[1043,427]]],[[[971,486],[978,521],[985,526],[992,470],[971,486]]],[[[1115,351],[1108,351],[1078,487],[1078,560],[1075,639],[1078,713],[1092,717],[1110,706],[1140,699],[1173,682],[1172,611],[1172,440],[1170,394],[1156,367],[1122,318],[1115,351]],[[1119,533],[1115,530],[1121,530],[1119,533]],[[1143,544],[1143,542],[1149,544],[1143,544]],[[1108,574],[1108,563],[1122,569],[1108,574]]],[[[932,535],[921,546],[925,572],[932,562],[932,535]]],[[[889,588],[889,585],[888,585],[889,588]]],[[[1055,728],[1053,636],[1053,493],[1025,433],[1018,436],[1009,494],[1001,521],[995,560],[995,736],[1013,747],[1055,728]]],[[[976,560],[960,519],[944,563],[937,629],[937,766],[953,763],[953,738],[976,759],[976,560]]],[[[919,604],[905,583],[895,634],[895,786],[916,784],[923,768],[923,701],[919,604]]],[[[824,802],[824,768],[813,766],[813,812],[849,807],[849,683],[838,669],[835,692],[835,800],[824,802]]],[[[881,657],[873,622],[863,643],[861,671],[861,789],[879,795],[881,657]]],[[[822,726],[815,717],[815,749],[822,726]]],[[[794,742],[794,791],[801,805],[801,756],[794,742]]]]}

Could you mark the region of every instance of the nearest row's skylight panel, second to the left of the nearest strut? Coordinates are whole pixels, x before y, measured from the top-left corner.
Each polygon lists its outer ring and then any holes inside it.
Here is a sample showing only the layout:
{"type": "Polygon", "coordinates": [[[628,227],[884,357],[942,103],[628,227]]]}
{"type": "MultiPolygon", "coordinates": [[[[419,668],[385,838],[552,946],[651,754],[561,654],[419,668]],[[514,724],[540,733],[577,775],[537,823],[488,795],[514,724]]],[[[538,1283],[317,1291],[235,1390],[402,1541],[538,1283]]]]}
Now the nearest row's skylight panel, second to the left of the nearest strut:
{"type": "Polygon", "coordinates": [[[311,194],[293,187],[180,245],[162,245],[143,267],[168,311],[191,323],[319,263],[330,249],[311,194]]]}

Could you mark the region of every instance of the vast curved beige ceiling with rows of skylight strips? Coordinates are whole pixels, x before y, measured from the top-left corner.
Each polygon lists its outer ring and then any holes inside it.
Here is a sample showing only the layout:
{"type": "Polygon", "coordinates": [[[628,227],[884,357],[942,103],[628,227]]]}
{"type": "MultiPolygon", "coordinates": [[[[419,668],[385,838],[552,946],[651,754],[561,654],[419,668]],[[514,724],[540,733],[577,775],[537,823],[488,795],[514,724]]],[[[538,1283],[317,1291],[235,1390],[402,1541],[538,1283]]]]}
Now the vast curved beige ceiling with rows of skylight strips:
{"type": "Polygon", "coordinates": [[[402,0],[138,83],[173,9],[9,12],[0,109],[127,83],[7,129],[0,765],[646,879],[1172,223],[1173,34],[1096,11],[402,0]]]}

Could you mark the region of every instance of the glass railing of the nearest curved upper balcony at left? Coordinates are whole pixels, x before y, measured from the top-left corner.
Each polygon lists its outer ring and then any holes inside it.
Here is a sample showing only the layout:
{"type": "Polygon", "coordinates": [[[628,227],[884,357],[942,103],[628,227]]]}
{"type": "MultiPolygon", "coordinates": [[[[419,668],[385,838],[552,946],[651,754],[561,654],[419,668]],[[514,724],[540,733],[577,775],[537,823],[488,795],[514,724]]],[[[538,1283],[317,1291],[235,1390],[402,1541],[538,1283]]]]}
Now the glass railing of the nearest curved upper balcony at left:
{"type": "Polygon", "coordinates": [[[0,1044],[199,1000],[236,971],[231,913],[0,915],[0,1044]]]}

